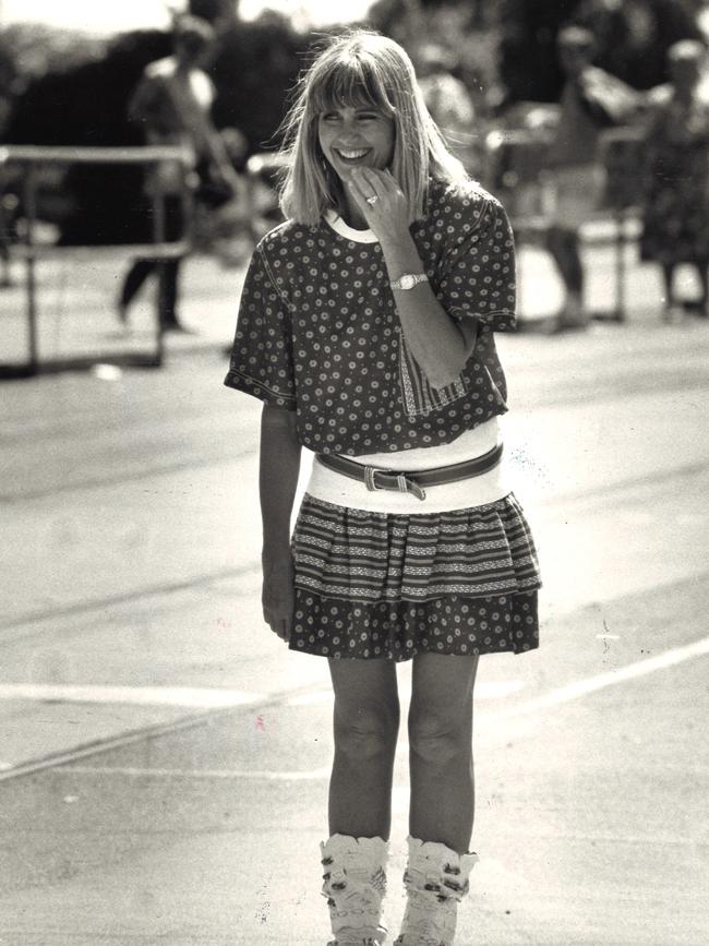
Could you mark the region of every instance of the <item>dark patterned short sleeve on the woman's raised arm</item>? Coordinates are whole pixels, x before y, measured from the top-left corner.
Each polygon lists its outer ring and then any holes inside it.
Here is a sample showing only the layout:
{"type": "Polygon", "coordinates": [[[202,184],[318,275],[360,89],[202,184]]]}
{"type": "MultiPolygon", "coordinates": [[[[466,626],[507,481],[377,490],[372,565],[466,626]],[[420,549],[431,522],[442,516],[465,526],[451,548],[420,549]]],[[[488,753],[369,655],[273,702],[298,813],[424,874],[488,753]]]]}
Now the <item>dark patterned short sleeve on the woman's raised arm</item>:
{"type": "Polygon", "coordinates": [[[454,319],[493,332],[515,327],[515,240],[502,204],[485,197],[477,224],[446,255],[436,296],[454,319]]]}

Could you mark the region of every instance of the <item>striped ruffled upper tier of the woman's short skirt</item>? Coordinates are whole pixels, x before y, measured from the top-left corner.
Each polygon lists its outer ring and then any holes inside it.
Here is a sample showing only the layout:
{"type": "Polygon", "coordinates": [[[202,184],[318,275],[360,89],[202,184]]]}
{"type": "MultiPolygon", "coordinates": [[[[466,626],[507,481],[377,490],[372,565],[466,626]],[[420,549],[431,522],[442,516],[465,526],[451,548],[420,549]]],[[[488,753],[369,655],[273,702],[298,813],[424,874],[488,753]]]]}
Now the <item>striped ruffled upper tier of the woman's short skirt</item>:
{"type": "Polygon", "coordinates": [[[529,526],[512,493],[423,515],[346,508],[305,494],[293,559],[298,588],[360,602],[514,595],[541,584],[529,526]]]}

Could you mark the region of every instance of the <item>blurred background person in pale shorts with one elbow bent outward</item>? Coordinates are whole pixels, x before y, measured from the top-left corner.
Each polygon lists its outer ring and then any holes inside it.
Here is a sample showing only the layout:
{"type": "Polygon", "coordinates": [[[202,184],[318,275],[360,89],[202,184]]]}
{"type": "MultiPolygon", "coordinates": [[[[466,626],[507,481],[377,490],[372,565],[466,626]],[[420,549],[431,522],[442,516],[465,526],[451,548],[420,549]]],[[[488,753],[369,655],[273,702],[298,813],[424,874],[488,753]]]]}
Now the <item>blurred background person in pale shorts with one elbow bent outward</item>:
{"type": "Polygon", "coordinates": [[[640,105],[630,86],[591,64],[593,47],[593,34],[581,26],[560,31],[557,50],[565,81],[548,158],[552,209],[546,238],[564,283],[565,301],[556,319],[560,330],[585,327],[590,318],[578,231],[599,209],[603,195],[601,132],[626,120],[640,105]]]}

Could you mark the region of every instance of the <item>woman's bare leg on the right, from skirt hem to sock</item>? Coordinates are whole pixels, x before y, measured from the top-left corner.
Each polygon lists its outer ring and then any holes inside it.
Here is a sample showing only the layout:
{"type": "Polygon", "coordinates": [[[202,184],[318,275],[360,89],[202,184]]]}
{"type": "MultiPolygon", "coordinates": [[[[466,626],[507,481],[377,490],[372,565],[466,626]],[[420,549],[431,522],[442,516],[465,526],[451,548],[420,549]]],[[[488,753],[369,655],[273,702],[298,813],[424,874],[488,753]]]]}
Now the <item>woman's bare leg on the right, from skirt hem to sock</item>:
{"type": "Polygon", "coordinates": [[[477,657],[413,658],[409,713],[409,833],[458,853],[470,843],[474,814],[472,690],[477,657]]]}

